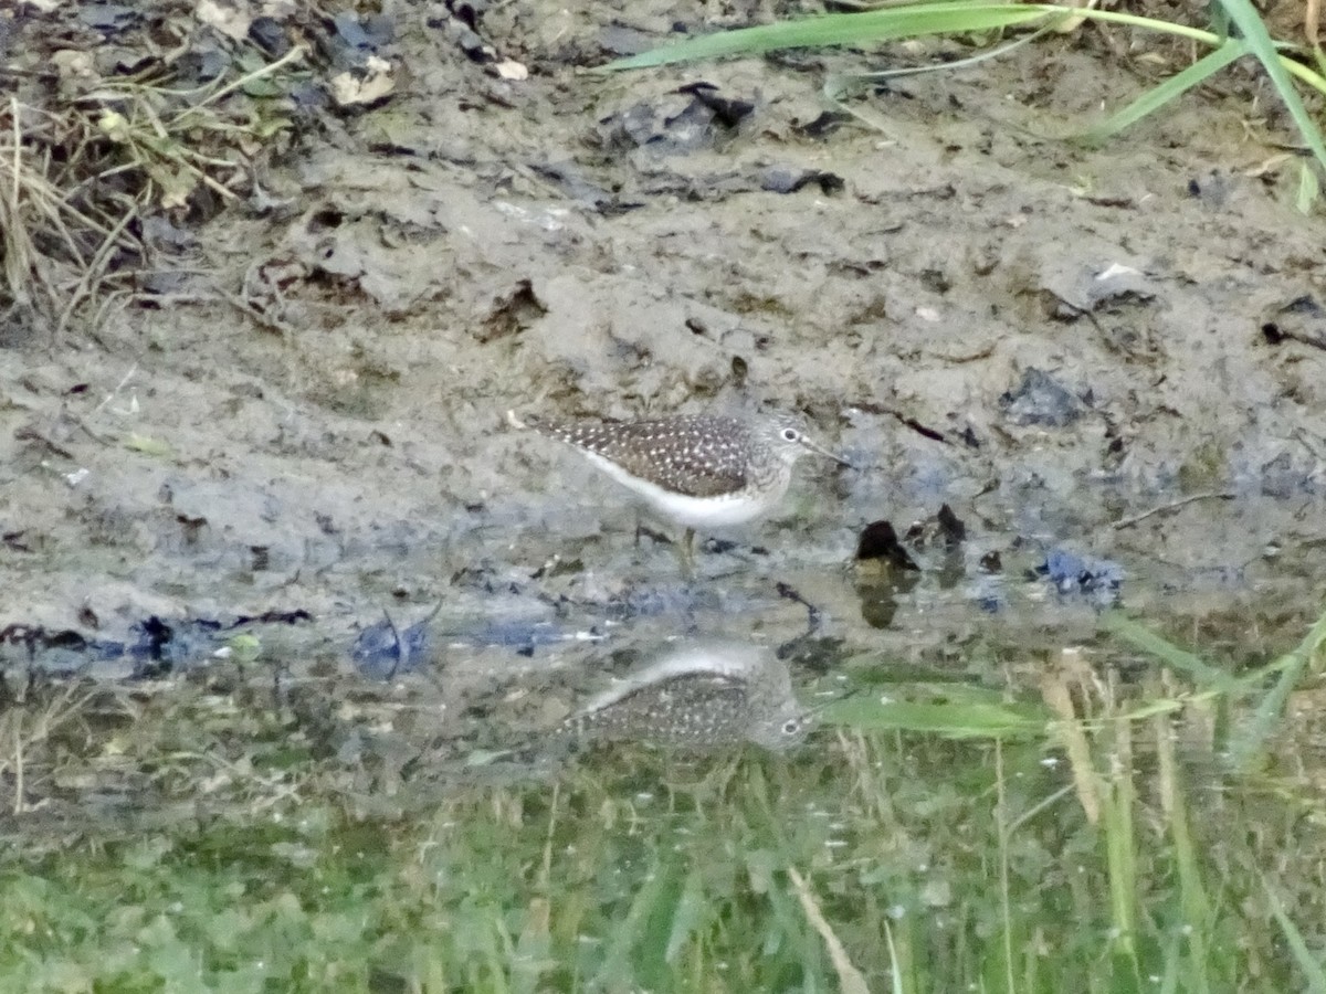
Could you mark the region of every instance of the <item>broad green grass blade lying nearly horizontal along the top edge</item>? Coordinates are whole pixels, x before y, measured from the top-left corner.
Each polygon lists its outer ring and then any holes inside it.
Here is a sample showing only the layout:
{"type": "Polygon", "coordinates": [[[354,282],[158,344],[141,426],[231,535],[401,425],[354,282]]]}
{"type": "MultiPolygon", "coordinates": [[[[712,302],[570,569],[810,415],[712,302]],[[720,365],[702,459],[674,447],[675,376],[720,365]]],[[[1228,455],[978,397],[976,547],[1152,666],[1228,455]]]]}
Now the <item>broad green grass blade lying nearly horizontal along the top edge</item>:
{"type": "Polygon", "coordinates": [[[754,56],[784,48],[818,48],[823,45],[862,45],[926,34],[969,33],[1033,24],[1046,17],[1063,16],[1057,8],[1021,4],[926,3],[867,11],[865,13],[830,13],[757,28],[704,34],[674,45],[618,58],[602,66],[605,72],[644,69],[648,66],[688,62],[697,58],[754,56]]]}

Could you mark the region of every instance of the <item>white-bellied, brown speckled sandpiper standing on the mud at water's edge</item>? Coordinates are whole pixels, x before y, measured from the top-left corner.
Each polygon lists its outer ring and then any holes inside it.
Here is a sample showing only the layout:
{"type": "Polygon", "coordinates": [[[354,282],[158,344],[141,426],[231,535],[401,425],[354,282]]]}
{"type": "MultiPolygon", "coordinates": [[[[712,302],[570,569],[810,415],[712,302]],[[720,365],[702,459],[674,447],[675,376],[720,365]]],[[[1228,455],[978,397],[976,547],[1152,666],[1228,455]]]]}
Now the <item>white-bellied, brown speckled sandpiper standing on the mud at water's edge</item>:
{"type": "Polygon", "coordinates": [[[806,435],[805,421],[776,415],[678,415],[643,421],[507,419],[565,441],[630,488],[662,516],[686,526],[690,565],[697,527],[740,525],[770,510],[792,484],[792,467],[815,452],[847,465],[806,435]]]}

